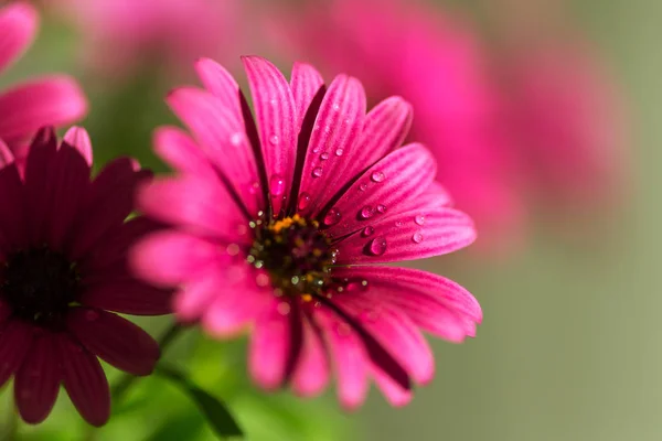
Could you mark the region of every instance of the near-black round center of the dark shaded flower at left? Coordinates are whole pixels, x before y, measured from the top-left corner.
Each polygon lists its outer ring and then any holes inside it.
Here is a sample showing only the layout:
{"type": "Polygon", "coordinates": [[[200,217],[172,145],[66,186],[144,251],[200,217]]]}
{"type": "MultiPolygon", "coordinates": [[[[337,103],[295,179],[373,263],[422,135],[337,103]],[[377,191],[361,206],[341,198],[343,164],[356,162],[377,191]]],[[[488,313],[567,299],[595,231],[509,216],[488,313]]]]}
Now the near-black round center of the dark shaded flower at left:
{"type": "Polygon", "coordinates": [[[61,327],[78,298],[79,275],[60,252],[46,247],[30,248],[7,257],[2,269],[1,295],[23,320],[61,327]]]}

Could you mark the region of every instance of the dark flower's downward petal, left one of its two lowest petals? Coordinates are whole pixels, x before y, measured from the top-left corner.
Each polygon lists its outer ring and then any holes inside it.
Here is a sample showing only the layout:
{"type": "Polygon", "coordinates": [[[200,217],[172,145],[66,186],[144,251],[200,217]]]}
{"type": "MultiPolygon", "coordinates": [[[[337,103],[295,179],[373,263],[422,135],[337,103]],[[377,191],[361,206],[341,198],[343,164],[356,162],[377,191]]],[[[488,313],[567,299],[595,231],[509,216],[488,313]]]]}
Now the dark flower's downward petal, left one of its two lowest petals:
{"type": "Polygon", "coordinates": [[[50,333],[36,337],[14,379],[14,399],[23,420],[36,424],[55,405],[62,380],[57,340],[50,333]]]}

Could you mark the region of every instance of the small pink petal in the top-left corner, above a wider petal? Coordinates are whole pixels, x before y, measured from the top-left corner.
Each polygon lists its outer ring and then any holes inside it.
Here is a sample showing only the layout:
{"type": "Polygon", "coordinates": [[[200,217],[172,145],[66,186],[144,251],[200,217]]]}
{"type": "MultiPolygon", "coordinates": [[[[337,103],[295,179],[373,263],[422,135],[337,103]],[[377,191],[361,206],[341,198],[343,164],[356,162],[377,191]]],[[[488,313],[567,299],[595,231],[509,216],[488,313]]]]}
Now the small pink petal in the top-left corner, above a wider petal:
{"type": "Polygon", "coordinates": [[[28,3],[13,3],[0,9],[0,71],[19,58],[36,35],[39,17],[28,3]]]}

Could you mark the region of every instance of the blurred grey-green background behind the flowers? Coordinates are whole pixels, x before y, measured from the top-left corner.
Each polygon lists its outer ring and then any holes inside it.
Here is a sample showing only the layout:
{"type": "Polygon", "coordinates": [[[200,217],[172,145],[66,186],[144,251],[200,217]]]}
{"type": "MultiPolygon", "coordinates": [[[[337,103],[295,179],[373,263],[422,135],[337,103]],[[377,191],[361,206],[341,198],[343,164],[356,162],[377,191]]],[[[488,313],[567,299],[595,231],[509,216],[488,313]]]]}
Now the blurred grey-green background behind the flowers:
{"type": "MultiPolygon", "coordinates": [[[[451,3],[480,17],[485,1],[451,3]]],[[[309,401],[289,392],[265,395],[245,377],[243,342],[212,344],[197,335],[178,341],[168,358],[223,397],[249,440],[662,439],[662,281],[655,276],[662,249],[662,2],[576,0],[572,7],[624,89],[631,115],[631,191],[618,213],[601,219],[609,234],[596,225],[598,239],[559,240],[541,227],[520,255],[461,252],[417,262],[469,288],[485,319],[478,337],[463,345],[433,342],[437,376],[403,409],[374,391],[352,415],[339,410],[333,390],[309,401]]],[[[38,43],[0,85],[40,72],[83,77],[74,40],[70,30],[46,21],[38,43]]],[[[172,84],[137,79],[108,92],[95,78],[83,83],[95,155],[131,153],[164,170],[149,146],[151,130],[173,121],[162,104],[172,84]]],[[[146,323],[154,333],[162,325],[146,323]]],[[[8,390],[1,391],[0,427],[10,424],[8,390]]],[[[143,380],[117,412],[88,439],[213,439],[193,405],[156,377],[143,380]]],[[[62,394],[53,418],[36,429],[21,426],[20,433],[25,440],[76,440],[87,430],[62,394]]]]}

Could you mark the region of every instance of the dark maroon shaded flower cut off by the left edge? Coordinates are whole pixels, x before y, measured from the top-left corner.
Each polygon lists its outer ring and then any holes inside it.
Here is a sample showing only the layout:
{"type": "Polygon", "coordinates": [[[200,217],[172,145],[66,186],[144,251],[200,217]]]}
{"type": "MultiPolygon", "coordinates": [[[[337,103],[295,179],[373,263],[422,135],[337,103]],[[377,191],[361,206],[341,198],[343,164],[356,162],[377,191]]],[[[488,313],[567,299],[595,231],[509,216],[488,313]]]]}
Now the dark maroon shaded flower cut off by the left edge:
{"type": "Polygon", "coordinates": [[[62,384],[83,418],[102,426],[110,412],[97,357],[148,375],[158,344],[108,311],[157,315],[169,291],[129,272],[126,250],[153,230],[125,218],[135,186],[149,176],[130,159],[110,162],[90,181],[87,132],[72,128],[57,144],[52,129],[32,142],[24,170],[0,143],[0,386],[14,376],[21,417],[43,421],[62,384]]]}

